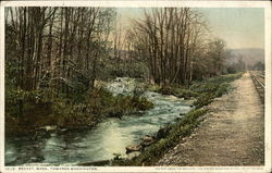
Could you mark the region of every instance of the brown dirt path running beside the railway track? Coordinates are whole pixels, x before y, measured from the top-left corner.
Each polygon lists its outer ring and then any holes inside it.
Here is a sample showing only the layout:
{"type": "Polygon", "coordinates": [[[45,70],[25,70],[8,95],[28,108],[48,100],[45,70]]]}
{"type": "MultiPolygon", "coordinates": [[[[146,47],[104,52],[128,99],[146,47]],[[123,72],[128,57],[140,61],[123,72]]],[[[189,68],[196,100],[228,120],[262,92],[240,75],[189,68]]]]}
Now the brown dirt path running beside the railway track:
{"type": "Polygon", "coordinates": [[[215,99],[194,134],[158,165],[263,165],[264,108],[248,73],[235,89],[215,99]]]}

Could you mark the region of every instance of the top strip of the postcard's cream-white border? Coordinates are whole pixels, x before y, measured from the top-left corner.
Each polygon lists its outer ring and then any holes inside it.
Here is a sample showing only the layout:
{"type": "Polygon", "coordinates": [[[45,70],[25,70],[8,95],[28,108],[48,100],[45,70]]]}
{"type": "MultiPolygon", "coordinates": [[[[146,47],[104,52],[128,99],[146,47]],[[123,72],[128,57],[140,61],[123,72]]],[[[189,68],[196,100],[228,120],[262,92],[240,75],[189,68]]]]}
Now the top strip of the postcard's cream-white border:
{"type": "Polygon", "coordinates": [[[269,8],[268,1],[4,1],[3,7],[191,7],[191,8],[269,8]]]}

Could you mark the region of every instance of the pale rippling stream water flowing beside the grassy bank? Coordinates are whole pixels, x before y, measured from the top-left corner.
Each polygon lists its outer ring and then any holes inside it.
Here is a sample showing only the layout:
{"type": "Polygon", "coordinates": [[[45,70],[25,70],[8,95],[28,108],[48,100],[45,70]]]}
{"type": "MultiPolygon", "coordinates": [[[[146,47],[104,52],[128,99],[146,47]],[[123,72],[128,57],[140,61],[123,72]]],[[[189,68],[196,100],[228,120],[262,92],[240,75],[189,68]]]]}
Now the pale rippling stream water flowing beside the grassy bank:
{"type": "MultiPolygon", "coordinates": [[[[122,82],[112,83],[108,89],[114,94],[124,92],[127,87],[120,83],[122,82]]],[[[174,96],[150,91],[145,92],[145,96],[154,103],[154,108],[141,115],[125,115],[122,120],[107,119],[92,129],[52,133],[50,137],[41,139],[7,138],[5,165],[75,165],[79,162],[112,159],[113,153],[127,157],[126,146],[139,144],[140,137],[153,135],[166,123],[181,118],[180,113],[191,110],[191,101],[174,96]]]]}

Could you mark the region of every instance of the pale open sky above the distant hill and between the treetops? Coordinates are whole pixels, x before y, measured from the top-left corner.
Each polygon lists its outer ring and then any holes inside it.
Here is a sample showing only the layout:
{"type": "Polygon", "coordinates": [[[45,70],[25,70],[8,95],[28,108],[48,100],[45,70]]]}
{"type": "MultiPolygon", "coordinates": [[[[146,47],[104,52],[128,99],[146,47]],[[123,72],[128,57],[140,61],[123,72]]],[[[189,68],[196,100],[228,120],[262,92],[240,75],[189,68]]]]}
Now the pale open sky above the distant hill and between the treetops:
{"type": "MultiPolygon", "coordinates": [[[[261,8],[199,8],[211,35],[225,40],[230,49],[264,48],[264,10],[261,8]]],[[[124,23],[141,17],[137,8],[118,9],[124,23]]]]}

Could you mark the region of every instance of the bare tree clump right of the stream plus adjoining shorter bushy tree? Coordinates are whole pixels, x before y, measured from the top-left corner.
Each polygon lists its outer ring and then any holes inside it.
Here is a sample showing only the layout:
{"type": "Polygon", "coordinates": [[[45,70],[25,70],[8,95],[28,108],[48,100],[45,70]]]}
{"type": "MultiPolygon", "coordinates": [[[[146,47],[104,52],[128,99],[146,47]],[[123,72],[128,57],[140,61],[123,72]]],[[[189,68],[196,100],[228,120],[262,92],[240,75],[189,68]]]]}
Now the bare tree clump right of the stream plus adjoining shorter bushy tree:
{"type": "Polygon", "coordinates": [[[150,78],[156,84],[185,84],[222,73],[224,41],[206,39],[207,22],[198,11],[152,9],[134,23],[135,50],[148,59],[150,78]]]}

